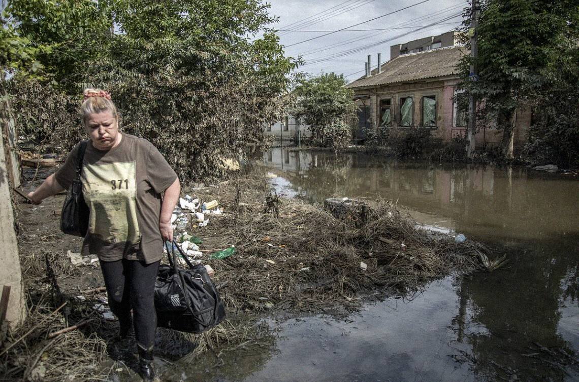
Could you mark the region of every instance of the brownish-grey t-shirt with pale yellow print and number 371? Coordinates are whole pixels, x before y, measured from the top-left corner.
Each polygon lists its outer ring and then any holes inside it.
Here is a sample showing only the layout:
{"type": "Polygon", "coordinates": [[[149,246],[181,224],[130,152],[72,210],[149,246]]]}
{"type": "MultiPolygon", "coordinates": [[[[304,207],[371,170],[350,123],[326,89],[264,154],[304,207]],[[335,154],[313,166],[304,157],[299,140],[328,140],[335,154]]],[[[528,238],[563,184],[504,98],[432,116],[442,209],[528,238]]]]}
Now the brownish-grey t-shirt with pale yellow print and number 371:
{"type": "MultiPolygon", "coordinates": [[[[66,189],[75,177],[79,146],[55,174],[66,189]]],[[[102,261],[158,261],[163,255],[161,192],[176,179],[163,155],[146,139],[123,133],[119,145],[108,151],[89,141],[80,176],[90,209],[81,253],[96,254],[102,261]]]]}

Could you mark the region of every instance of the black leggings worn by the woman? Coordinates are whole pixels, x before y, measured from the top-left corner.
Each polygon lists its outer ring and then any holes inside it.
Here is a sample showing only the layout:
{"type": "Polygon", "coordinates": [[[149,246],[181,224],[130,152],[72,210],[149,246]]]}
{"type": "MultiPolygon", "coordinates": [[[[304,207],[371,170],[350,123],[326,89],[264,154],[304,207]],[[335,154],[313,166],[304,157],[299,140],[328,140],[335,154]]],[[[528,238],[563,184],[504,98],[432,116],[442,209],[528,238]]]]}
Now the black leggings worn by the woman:
{"type": "Polygon", "coordinates": [[[160,261],[151,264],[137,260],[101,261],[109,306],[119,318],[120,327],[128,327],[133,309],[137,345],[143,350],[155,344],[155,280],[160,261]]]}

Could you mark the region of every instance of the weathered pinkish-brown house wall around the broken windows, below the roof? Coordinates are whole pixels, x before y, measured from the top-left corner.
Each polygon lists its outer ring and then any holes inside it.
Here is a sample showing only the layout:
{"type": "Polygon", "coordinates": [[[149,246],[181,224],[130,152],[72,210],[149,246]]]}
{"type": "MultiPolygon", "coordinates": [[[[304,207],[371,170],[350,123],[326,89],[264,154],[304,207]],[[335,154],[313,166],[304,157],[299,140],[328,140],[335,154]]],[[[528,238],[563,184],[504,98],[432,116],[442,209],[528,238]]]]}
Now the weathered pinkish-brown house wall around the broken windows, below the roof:
{"type": "MultiPolygon", "coordinates": [[[[457,84],[457,79],[417,81],[406,84],[390,84],[374,88],[355,89],[354,93],[358,97],[364,95],[369,99],[356,101],[357,105],[368,105],[370,107],[370,119],[372,128],[377,128],[380,123],[380,100],[391,99],[391,132],[390,136],[400,136],[411,128],[429,129],[430,135],[439,138],[443,142],[449,142],[456,136],[466,136],[466,127],[455,126],[455,110],[453,105],[453,95],[457,84]],[[422,121],[422,98],[434,95],[436,98],[436,126],[424,127],[422,121]],[[414,112],[413,126],[400,126],[400,106],[401,98],[413,97],[414,112]]],[[[530,109],[519,109],[515,127],[515,144],[526,141],[527,130],[530,126],[530,109]]],[[[475,135],[475,145],[477,147],[494,146],[500,144],[501,133],[492,127],[480,129],[475,135]]]]}

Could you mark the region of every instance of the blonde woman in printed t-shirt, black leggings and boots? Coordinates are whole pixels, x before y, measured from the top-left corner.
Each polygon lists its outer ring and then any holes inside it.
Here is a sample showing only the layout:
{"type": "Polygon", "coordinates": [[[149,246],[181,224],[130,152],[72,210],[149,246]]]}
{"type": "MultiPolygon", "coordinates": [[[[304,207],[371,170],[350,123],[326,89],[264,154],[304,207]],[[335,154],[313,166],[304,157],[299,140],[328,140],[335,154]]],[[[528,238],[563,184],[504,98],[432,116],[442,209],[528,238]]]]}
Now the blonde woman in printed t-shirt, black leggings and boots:
{"type": "MultiPolygon", "coordinates": [[[[119,116],[108,92],[87,89],[80,106],[90,136],[82,166],[82,188],[90,209],[82,254],[96,254],[120,337],[133,327],[144,380],[153,380],[155,280],[163,240],[173,240],[171,213],[181,186],[174,170],[150,142],[119,132],[119,116]],[[164,192],[163,198],[161,194],[164,192]]],[[[75,178],[80,143],[64,165],[28,197],[34,203],[66,190],[75,178]]]]}

